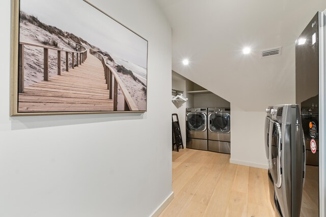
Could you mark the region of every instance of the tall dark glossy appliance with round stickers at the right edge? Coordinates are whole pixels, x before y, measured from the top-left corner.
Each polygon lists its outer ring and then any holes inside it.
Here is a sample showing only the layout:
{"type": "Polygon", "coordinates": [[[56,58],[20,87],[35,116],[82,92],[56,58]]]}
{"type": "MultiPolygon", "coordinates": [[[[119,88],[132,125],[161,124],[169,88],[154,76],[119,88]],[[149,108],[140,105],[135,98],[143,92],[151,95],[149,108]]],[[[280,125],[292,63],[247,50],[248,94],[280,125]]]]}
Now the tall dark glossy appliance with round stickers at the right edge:
{"type": "MultiPolygon", "coordinates": [[[[306,180],[302,196],[304,215],[319,216],[319,34],[317,12],[295,42],[295,103],[301,108],[302,127],[306,145],[306,180]]],[[[325,18],[323,18],[325,19],[325,18]]]]}

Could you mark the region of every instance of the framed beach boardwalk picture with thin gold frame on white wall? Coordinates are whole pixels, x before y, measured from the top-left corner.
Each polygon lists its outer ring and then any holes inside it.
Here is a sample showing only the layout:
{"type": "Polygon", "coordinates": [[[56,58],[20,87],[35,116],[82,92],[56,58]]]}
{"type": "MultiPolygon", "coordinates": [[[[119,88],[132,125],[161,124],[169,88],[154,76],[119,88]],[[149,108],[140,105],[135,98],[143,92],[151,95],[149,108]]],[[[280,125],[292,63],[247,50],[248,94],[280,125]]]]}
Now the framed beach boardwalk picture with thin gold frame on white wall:
{"type": "Polygon", "coordinates": [[[86,0],[12,0],[11,115],[145,112],[148,41],[86,0]]]}

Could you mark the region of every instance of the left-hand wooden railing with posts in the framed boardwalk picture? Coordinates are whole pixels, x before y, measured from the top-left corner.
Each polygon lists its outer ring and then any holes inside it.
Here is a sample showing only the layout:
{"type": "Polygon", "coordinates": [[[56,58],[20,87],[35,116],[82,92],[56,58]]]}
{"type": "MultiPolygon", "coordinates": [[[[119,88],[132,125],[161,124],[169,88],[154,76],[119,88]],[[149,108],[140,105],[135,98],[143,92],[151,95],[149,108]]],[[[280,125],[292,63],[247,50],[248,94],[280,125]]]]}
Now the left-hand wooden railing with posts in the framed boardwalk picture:
{"type": "Polygon", "coordinates": [[[76,66],[82,65],[87,58],[87,49],[82,47],[82,51],[71,51],[71,50],[63,50],[59,48],[53,48],[38,44],[33,44],[29,42],[19,42],[19,80],[18,80],[18,92],[24,92],[24,46],[33,46],[33,47],[40,47],[44,49],[44,58],[43,58],[43,74],[44,74],[44,81],[48,81],[49,79],[49,50],[57,50],[58,51],[58,75],[61,75],[61,52],[66,53],[66,71],[69,71],[69,54],[71,53],[72,62],[71,68],[74,69],[75,67],[75,57],[76,57],[76,66]]]}

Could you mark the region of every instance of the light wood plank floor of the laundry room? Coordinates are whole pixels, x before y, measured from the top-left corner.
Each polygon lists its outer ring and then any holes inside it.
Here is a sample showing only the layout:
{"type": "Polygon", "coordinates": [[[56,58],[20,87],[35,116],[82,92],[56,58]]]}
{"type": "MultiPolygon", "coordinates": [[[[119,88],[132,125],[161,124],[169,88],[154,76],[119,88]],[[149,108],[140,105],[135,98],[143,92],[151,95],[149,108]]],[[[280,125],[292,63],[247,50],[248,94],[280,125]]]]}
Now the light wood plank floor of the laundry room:
{"type": "Polygon", "coordinates": [[[230,164],[230,155],[172,152],[174,199],[163,216],[274,216],[267,170],[230,164]]]}

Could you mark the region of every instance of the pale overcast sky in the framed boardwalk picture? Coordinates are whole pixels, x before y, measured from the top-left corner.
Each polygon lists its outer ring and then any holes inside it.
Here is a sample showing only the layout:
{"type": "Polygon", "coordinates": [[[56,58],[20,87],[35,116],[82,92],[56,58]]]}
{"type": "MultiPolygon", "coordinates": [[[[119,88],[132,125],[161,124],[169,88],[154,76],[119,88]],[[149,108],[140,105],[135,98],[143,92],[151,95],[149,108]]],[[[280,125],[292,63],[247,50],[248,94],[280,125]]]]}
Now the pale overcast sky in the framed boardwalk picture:
{"type": "Polygon", "coordinates": [[[147,41],[82,0],[20,0],[20,10],[147,68],[147,41]]]}

